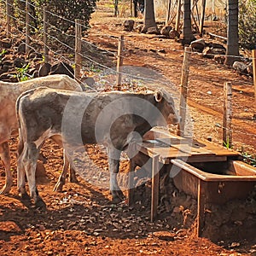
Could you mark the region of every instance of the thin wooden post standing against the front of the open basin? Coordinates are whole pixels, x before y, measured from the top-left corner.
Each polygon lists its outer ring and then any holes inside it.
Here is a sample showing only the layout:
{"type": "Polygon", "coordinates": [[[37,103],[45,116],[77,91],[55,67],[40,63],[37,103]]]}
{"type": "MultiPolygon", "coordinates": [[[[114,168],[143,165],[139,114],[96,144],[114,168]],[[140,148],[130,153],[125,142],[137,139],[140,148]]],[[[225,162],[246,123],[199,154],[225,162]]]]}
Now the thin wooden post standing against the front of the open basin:
{"type": "Polygon", "coordinates": [[[205,219],[205,204],[206,204],[206,191],[205,182],[200,178],[198,179],[197,186],[197,236],[201,236],[201,230],[203,228],[205,219]]]}

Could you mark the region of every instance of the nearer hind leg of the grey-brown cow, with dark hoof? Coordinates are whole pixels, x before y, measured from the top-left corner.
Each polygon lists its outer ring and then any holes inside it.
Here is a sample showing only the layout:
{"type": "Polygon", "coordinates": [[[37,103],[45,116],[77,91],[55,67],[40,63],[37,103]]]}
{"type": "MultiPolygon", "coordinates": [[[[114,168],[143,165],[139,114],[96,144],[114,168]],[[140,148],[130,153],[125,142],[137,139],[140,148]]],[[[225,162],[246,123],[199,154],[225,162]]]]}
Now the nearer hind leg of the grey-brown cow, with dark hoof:
{"type": "Polygon", "coordinates": [[[24,149],[23,165],[26,172],[30,195],[31,198],[34,200],[36,207],[44,209],[46,208],[46,205],[43,199],[38,194],[38,189],[36,185],[36,169],[40,148],[37,148],[34,143],[29,143],[24,149]]]}

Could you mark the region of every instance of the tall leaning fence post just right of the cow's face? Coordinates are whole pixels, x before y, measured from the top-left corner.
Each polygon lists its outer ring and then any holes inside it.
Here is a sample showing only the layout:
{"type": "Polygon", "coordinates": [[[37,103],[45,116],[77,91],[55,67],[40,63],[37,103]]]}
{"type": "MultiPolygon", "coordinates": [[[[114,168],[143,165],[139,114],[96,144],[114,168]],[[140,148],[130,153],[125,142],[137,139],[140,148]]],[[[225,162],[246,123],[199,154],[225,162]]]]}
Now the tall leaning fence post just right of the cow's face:
{"type": "Polygon", "coordinates": [[[183,70],[181,78],[181,91],[180,91],[180,105],[179,114],[181,120],[177,125],[177,135],[183,137],[185,131],[185,119],[186,119],[186,108],[187,108],[187,95],[188,95],[188,81],[189,81],[189,58],[191,55],[191,47],[185,47],[183,56],[183,70]]]}

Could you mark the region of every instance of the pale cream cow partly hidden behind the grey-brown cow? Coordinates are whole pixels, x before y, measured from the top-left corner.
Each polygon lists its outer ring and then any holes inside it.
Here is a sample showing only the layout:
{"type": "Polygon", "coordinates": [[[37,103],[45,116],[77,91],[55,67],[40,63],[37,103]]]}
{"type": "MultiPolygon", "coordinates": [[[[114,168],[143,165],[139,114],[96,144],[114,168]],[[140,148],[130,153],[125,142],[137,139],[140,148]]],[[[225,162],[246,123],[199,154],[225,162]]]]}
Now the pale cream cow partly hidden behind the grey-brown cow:
{"type": "Polygon", "coordinates": [[[14,131],[18,133],[15,102],[21,93],[39,86],[82,91],[79,83],[67,75],[50,75],[20,83],[0,81],[0,158],[6,172],[5,185],[0,194],[9,193],[13,183],[10,171],[9,138],[14,131]]]}

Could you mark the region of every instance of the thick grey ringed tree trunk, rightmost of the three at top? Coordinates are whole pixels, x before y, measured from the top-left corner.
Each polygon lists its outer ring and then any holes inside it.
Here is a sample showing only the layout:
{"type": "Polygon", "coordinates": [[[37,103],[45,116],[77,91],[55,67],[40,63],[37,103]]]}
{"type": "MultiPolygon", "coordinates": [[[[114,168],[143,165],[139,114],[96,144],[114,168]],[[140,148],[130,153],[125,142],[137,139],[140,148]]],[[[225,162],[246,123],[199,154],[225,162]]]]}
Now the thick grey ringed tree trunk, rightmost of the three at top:
{"type": "Polygon", "coordinates": [[[239,56],[238,0],[228,1],[228,44],[224,64],[232,66],[239,56]],[[237,56],[237,57],[236,57],[237,56]]]}

